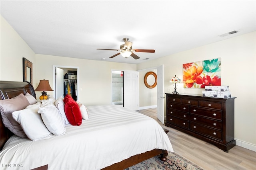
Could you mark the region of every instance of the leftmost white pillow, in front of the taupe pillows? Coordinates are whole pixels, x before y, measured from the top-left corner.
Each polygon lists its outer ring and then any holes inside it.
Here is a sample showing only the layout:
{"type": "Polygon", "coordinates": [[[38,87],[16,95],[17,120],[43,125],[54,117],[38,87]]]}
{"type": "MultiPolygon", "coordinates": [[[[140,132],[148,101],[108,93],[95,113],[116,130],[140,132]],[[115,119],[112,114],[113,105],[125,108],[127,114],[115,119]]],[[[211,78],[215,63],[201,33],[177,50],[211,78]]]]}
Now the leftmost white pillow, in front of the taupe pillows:
{"type": "Polygon", "coordinates": [[[23,110],[12,112],[13,119],[20,123],[23,131],[31,141],[48,139],[52,136],[52,133],[44,125],[41,116],[37,113],[40,105],[41,102],[37,102],[23,110]]]}

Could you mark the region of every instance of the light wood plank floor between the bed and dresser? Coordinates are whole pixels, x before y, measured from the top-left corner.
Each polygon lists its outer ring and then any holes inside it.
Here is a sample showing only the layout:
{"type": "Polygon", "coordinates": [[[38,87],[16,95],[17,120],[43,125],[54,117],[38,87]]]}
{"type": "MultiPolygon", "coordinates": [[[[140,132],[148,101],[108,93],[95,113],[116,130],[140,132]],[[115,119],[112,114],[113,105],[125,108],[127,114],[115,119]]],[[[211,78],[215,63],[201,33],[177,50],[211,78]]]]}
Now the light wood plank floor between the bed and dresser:
{"type": "Polygon", "coordinates": [[[252,150],[235,146],[226,153],[210,143],[166,127],[157,119],[157,108],[138,112],[154,118],[162,127],[168,129],[174,152],[204,170],[256,170],[256,152],[252,150]]]}

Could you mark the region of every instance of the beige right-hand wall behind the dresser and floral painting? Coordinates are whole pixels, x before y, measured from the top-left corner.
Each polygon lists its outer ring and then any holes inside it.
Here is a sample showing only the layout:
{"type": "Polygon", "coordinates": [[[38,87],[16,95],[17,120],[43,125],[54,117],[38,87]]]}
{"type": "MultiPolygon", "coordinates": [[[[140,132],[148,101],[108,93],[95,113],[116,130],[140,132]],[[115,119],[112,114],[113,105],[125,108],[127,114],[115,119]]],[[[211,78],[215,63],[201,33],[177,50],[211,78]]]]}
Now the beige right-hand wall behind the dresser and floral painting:
{"type": "MultiPolygon", "coordinates": [[[[256,151],[256,32],[247,33],[195,49],[137,64],[142,70],[164,64],[164,92],[172,92],[170,78],[182,78],[182,64],[221,58],[222,85],[228,85],[235,99],[235,138],[237,145],[256,151]],[[169,64],[168,64],[169,63],[169,64]]],[[[143,86],[144,84],[140,84],[143,86]]],[[[140,87],[141,88],[141,87],[140,87]]],[[[185,94],[202,94],[199,88],[183,88],[185,94]]],[[[140,98],[146,94],[140,94],[140,98]]],[[[166,113],[165,113],[166,115],[166,113]]]]}

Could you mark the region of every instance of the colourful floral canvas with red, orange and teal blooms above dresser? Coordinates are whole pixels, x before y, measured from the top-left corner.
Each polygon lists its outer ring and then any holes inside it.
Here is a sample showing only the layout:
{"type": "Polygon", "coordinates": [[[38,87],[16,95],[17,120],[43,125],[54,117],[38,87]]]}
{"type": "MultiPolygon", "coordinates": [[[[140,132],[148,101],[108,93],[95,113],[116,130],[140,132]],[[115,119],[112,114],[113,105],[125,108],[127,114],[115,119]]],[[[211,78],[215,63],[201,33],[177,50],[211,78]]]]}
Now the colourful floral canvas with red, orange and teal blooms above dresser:
{"type": "Polygon", "coordinates": [[[220,58],[183,64],[184,88],[204,88],[205,86],[220,86],[220,73],[220,58]]]}

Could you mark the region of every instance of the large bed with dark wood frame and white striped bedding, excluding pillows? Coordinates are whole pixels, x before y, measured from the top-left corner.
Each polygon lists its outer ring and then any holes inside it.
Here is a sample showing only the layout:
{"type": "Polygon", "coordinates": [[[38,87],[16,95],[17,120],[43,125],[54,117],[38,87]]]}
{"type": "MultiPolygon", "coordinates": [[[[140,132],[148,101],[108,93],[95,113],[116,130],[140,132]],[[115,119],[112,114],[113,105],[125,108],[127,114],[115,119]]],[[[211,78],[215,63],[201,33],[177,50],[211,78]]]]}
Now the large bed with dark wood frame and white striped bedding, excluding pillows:
{"type": "MultiPolygon", "coordinates": [[[[0,82],[1,100],[26,93],[36,97],[29,82],[0,82]]],[[[1,169],[122,170],[159,154],[165,161],[173,152],[154,119],[118,105],[87,109],[90,120],[39,141],[13,135],[1,119],[1,169]]]]}

